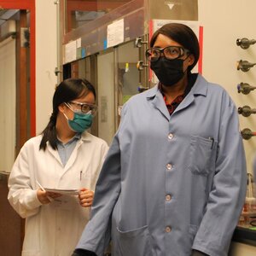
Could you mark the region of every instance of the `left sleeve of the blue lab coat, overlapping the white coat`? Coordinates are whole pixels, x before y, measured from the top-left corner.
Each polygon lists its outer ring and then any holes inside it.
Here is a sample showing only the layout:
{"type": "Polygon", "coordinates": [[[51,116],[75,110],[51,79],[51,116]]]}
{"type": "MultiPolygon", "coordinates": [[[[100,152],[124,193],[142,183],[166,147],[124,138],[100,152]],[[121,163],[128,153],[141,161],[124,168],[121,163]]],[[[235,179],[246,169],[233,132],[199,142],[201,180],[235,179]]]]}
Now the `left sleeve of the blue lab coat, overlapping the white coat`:
{"type": "MultiPolygon", "coordinates": [[[[124,109],[122,111],[124,113],[124,109]]],[[[122,115],[122,120],[124,115],[122,115]]],[[[119,129],[120,129],[119,126],[119,129]]],[[[121,188],[119,131],[113,137],[99,179],[91,208],[90,221],[79,240],[77,249],[86,249],[102,256],[108,247],[111,232],[113,207],[119,198],[121,188]]]]}

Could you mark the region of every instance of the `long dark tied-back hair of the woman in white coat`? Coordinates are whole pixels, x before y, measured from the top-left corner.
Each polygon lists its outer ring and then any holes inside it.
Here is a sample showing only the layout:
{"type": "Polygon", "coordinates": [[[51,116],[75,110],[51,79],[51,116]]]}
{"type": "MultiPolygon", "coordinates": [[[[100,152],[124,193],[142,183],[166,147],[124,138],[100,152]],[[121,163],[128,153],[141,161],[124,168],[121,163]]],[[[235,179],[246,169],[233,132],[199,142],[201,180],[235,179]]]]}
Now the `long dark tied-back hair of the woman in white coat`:
{"type": "Polygon", "coordinates": [[[46,143],[49,142],[50,146],[54,149],[57,148],[57,135],[55,130],[57,115],[59,113],[58,107],[61,103],[71,102],[82,96],[86,96],[92,92],[96,97],[96,90],[92,84],[86,79],[66,79],[56,87],[55,94],[52,100],[53,112],[49,118],[48,125],[42,132],[43,138],[41,140],[39,149],[46,148],[46,143]]]}

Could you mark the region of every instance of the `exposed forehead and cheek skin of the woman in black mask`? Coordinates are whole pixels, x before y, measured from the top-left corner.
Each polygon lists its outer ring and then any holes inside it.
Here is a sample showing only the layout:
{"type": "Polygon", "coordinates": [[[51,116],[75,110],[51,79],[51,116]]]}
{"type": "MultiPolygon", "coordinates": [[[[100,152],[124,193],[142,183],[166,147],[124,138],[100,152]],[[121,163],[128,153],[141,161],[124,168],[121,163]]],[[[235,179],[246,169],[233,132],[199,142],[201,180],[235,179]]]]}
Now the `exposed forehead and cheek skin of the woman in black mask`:
{"type": "MultiPolygon", "coordinates": [[[[176,41],[173,41],[171,38],[166,37],[163,34],[159,34],[158,37],[156,38],[153,48],[160,48],[160,49],[164,49],[167,46],[180,46],[183,47],[183,45],[178,44],[176,41]]],[[[183,55],[182,57],[180,57],[180,59],[183,59],[183,72],[185,72],[189,66],[191,66],[194,61],[195,61],[195,57],[194,55],[183,55]]]]}

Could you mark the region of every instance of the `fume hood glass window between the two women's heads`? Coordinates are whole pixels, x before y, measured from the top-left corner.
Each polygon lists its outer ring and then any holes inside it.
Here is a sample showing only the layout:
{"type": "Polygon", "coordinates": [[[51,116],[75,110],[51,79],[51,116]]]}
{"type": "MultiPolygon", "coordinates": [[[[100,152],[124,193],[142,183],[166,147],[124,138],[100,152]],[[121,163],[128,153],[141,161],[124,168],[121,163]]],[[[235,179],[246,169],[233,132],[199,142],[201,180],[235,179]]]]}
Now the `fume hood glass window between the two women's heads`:
{"type": "Polygon", "coordinates": [[[108,143],[119,127],[123,104],[138,93],[138,58],[133,41],[97,55],[98,136],[108,143]]]}

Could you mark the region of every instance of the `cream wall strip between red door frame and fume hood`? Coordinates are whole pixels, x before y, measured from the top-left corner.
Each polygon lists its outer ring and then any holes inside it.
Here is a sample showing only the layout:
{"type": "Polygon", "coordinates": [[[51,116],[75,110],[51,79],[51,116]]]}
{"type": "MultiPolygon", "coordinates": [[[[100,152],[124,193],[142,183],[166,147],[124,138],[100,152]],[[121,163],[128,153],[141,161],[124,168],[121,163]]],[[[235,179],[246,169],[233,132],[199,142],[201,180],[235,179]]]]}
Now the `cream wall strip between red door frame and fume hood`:
{"type": "Polygon", "coordinates": [[[36,0],[36,132],[44,130],[52,112],[57,77],[56,4],[36,0]]]}

